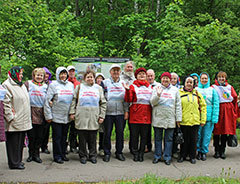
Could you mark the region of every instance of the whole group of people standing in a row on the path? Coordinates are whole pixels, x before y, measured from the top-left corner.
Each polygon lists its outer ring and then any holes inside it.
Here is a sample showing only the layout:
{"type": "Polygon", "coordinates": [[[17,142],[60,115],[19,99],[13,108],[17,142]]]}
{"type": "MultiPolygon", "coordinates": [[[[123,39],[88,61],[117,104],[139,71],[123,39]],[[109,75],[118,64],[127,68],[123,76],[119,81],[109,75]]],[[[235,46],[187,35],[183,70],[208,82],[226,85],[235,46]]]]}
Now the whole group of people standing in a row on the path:
{"type": "Polygon", "coordinates": [[[68,136],[70,150],[78,147],[80,162],[96,164],[98,132],[99,154],[104,162],[109,162],[114,126],[115,157],[125,161],[126,122],[129,150],[135,162],[143,162],[144,153],[152,150],[152,127],[153,164],[161,160],[171,164],[172,155],[178,150],[174,135],[179,130],[184,139],[179,163],[188,157],[192,164],[196,159],[205,161],[212,133],[214,157],[226,158],[227,137],[236,134],[239,110],[237,94],[228,84],[225,72],[216,74],[212,86],[206,72],[186,76],[182,86],[176,73],[164,72],[158,83],[152,69],[141,67],[134,71],[132,61],[125,64],[123,72],[120,65],[111,65],[109,73],[110,77],[105,79],[102,73],[87,69],[80,83],[74,66],[58,67],[54,81],[46,67],[35,68],[32,80],[23,83],[23,68],[11,68],[8,79],[0,86],[0,140],[6,141],[9,168],[25,168],[22,153],[26,135],[29,140],[26,161],[42,163],[40,148],[50,153],[47,148],[50,125],[53,160],[59,164],[69,161],[68,136]]]}

